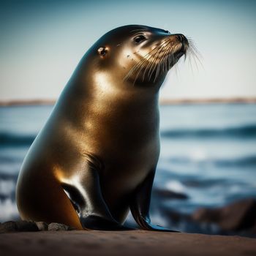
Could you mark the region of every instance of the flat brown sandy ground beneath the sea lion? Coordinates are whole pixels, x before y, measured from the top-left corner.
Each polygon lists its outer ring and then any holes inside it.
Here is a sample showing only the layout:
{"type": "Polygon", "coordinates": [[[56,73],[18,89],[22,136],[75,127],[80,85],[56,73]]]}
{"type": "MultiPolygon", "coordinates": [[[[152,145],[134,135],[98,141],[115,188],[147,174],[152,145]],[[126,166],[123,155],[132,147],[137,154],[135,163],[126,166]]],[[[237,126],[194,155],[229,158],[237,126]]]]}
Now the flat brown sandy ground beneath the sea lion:
{"type": "Polygon", "coordinates": [[[256,239],[188,233],[42,231],[0,234],[0,255],[256,255],[256,239]]]}

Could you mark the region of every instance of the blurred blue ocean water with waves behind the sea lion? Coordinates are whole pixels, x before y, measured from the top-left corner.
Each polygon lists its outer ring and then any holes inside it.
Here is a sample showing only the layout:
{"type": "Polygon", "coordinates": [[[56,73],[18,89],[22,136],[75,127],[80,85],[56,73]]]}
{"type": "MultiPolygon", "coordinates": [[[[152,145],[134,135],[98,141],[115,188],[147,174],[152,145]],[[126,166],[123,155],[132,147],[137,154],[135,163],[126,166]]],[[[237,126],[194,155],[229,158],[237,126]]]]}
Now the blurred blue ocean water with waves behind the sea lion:
{"type": "MultiPolygon", "coordinates": [[[[0,108],[0,222],[18,218],[15,184],[23,158],[53,106],[0,108]]],[[[187,199],[154,194],[151,216],[168,225],[163,210],[192,214],[256,198],[256,105],[208,104],[160,107],[161,154],[154,189],[187,199]]],[[[129,216],[129,219],[131,217],[129,216]]],[[[181,230],[188,230],[180,224],[181,230]]]]}

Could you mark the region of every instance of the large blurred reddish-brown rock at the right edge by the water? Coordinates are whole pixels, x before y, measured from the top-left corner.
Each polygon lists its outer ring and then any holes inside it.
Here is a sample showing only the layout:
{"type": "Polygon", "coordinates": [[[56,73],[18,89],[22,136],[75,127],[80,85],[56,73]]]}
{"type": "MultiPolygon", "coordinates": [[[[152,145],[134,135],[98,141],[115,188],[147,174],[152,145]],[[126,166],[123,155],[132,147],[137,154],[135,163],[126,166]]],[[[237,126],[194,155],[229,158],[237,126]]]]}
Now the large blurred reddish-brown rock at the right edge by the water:
{"type": "Polygon", "coordinates": [[[252,230],[256,225],[256,200],[248,198],[221,208],[199,208],[192,214],[192,220],[211,222],[222,230],[252,230]]]}

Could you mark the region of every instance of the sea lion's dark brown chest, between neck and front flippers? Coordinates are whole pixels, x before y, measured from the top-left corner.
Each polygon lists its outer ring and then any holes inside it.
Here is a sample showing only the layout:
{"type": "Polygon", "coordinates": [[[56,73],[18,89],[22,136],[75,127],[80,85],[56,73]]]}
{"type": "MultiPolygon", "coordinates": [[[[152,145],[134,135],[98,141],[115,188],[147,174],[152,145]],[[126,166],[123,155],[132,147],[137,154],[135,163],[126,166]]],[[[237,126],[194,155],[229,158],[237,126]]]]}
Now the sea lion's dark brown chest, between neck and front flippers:
{"type": "Polygon", "coordinates": [[[159,157],[158,109],[120,110],[94,116],[94,129],[86,132],[88,151],[101,159],[102,183],[132,189],[157,165],[159,157]]]}

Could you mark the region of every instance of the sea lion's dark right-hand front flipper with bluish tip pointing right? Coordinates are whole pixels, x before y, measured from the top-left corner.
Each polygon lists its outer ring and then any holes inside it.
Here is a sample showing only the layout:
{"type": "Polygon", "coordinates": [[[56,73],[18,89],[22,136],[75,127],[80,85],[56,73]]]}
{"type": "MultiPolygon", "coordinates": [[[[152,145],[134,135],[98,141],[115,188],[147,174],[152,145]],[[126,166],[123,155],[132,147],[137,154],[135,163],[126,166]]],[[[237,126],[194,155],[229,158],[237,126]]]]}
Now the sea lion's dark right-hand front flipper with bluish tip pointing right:
{"type": "Polygon", "coordinates": [[[130,204],[132,216],[135,218],[137,224],[144,230],[178,232],[151,224],[151,219],[149,217],[149,206],[151,200],[151,190],[154,181],[154,173],[155,171],[149,173],[143,183],[140,184],[136,190],[135,196],[132,198],[132,203],[130,204]]]}

